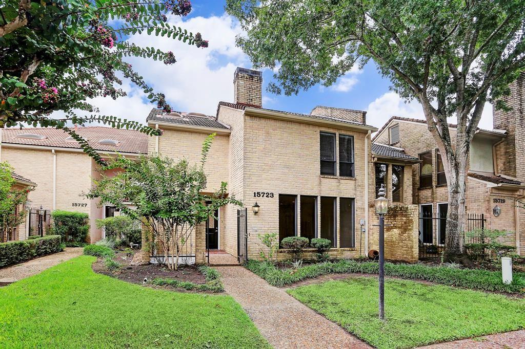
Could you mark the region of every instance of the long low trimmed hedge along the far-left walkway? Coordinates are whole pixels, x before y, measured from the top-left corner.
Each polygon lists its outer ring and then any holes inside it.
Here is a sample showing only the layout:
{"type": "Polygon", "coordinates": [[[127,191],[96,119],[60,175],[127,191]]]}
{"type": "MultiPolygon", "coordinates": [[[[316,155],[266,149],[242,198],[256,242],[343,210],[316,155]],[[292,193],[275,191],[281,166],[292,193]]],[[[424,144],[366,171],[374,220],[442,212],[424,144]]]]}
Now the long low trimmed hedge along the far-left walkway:
{"type": "Polygon", "coordinates": [[[0,243],[0,268],[62,250],[60,235],[0,243]]]}

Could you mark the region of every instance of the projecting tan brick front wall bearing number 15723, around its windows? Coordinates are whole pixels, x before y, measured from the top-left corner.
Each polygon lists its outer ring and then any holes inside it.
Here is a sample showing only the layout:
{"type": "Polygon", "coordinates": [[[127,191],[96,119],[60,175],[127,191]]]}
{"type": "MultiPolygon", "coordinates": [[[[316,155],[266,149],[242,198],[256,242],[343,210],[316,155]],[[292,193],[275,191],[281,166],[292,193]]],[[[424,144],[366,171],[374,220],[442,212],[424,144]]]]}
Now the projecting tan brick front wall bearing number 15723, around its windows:
{"type": "MultiPolygon", "coordinates": [[[[248,256],[259,258],[258,234],[279,232],[279,194],[298,195],[297,233],[300,236],[300,195],[318,197],[318,232],[320,232],[320,197],[337,198],[337,242],[339,245],[339,198],[355,198],[355,245],[357,248],[335,250],[339,257],[359,255],[360,225],[365,217],[364,139],[362,132],[319,127],[295,122],[245,116],[244,131],[244,204],[248,208],[248,256]],[[319,132],[354,136],[355,179],[320,175],[319,132]],[[257,198],[254,192],[271,192],[273,198],[257,198]],[[259,214],[251,212],[258,202],[259,214]]],[[[369,149],[370,149],[370,140],[369,149]]],[[[339,146],[337,142],[337,146],[339,146]]],[[[338,150],[336,150],[336,154],[338,150]]],[[[371,153],[369,180],[373,183],[371,153]]],[[[339,166],[337,169],[339,172],[339,166]]],[[[232,170],[231,173],[234,173],[232,170]]],[[[373,199],[373,189],[370,199],[373,199]]],[[[364,243],[363,243],[364,248],[364,243]]]]}

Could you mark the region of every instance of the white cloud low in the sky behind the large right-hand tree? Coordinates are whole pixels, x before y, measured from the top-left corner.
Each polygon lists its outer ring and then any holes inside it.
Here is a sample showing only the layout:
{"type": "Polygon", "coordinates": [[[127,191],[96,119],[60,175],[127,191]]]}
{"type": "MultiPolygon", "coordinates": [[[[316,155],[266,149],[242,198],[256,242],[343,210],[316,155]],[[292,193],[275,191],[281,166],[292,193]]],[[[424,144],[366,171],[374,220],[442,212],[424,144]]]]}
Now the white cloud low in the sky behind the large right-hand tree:
{"type": "MultiPolygon", "coordinates": [[[[392,116],[412,117],[424,119],[423,108],[416,100],[405,103],[405,101],[395,92],[387,92],[369,104],[366,113],[366,123],[372,126],[381,127],[392,116]]],[[[456,117],[450,117],[448,122],[456,123],[456,117]]],[[[492,129],[492,105],[485,104],[479,127],[492,129]]]]}

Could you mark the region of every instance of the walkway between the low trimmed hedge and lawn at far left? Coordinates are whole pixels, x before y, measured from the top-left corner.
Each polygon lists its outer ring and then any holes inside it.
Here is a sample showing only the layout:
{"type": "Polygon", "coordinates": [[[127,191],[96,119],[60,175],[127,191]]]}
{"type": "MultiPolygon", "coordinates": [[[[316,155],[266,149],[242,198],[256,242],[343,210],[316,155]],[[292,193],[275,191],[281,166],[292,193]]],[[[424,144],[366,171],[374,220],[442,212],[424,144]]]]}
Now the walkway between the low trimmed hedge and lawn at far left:
{"type": "Polygon", "coordinates": [[[28,278],[81,254],[82,247],[67,247],[63,252],[31,259],[24,263],[0,269],[0,286],[28,278]]]}

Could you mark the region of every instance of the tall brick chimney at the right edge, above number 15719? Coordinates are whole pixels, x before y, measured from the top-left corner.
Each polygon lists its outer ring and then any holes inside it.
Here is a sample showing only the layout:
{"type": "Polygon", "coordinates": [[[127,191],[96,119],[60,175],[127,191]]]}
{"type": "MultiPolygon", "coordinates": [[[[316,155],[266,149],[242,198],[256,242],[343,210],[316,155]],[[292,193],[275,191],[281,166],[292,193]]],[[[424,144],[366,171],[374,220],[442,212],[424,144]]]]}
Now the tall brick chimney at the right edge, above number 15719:
{"type": "Polygon", "coordinates": [[[525,180],[525,72],[509,87],[510,95],[503,100],[511,110],[492,108],[493,127],[507,130],[507,137],[496,147],[497,169],[501,174],[525,180]]]}

